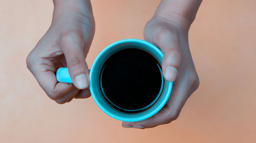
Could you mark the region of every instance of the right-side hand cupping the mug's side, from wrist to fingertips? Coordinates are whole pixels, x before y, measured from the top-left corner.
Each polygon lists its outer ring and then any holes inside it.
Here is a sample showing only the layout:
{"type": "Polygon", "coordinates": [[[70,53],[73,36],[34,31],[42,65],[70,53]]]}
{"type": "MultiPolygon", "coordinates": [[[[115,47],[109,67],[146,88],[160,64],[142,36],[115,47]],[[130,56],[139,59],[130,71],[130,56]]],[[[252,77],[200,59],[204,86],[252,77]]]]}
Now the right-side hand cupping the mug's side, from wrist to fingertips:
{"type": "Polygon", "coordinates": [[[144,28],[144,38],[164,53],[162,72],[174,81],[165,106],[151,118],[139,122],[123,122],[123,127],[152,128],[176,120],[188,97],[198,88],[199,78],[188,46],[187,32],[176,22],[155,16],[144,28]]]}

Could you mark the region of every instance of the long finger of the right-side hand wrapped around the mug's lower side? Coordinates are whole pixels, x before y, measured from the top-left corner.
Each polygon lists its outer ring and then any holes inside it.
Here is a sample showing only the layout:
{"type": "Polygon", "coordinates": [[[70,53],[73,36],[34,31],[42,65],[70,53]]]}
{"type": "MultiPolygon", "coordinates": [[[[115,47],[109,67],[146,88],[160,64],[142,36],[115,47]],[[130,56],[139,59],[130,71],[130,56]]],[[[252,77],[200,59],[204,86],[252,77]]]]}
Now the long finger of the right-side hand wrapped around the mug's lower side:
{"type": "MultiPolygon", "coordinates": [[[[178,80],[178,79],[177,79],[178,80]]],[[[133,128],[152,128],[158,125],[167,124],[176,120],[180,114],[180,111],[189,97],[190,84],[185,80],[175,81],[174,88],[170,98],[168,99],[165,106],[152,116],[143,121],[139,122],[123,122],[123,127],[133,127],[133,128]]]]}

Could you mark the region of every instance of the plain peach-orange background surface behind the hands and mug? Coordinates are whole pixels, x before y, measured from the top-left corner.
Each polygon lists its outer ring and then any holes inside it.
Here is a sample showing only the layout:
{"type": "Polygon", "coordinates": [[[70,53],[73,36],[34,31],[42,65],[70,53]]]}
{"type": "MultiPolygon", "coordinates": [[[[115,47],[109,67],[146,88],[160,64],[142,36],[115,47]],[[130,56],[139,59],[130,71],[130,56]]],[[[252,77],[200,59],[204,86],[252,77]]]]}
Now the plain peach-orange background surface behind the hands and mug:
{"type": "MultiPolygon", "coordinates": [[[[89,67],[106,45],[143,39],[159,2],[93,0],[89,67]]],[[[0,142],[255,142],[256,1],[202,3],[189,32],[200,87],[176,121],[145,130],[122,128],[92,98],[50,100],[27,70],[26,56],[51,23],[52,2],[0,3],[0,142]]]]}

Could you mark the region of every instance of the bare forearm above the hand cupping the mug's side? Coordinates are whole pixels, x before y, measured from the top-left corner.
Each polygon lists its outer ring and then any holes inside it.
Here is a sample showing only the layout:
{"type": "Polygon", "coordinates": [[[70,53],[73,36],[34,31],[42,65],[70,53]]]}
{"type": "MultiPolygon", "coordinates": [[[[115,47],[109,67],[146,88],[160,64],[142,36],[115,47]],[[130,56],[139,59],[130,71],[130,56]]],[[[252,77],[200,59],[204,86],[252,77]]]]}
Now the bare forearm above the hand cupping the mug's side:
{"type": "Polygon", "coordinates": [[[188,31],[202,0],[162,0],[154,17],[161,17],[179,24],[188,31]]]}

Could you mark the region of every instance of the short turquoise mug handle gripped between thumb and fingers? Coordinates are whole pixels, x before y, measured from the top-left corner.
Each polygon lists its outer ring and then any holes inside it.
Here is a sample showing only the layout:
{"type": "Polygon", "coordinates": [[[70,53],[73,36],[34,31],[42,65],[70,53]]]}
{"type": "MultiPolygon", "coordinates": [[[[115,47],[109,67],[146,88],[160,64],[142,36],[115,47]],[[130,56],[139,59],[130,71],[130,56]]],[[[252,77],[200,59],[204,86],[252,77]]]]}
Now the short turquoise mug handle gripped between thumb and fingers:
{"type": "Polygon", "coordinates": [[[58,82],[73,83],[69,75],[68,68],[58,68],[56,72],[56,79],[58,82]]]}

